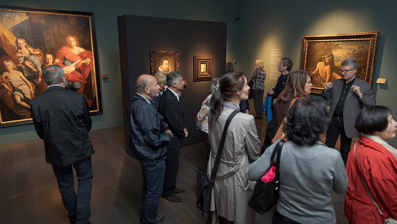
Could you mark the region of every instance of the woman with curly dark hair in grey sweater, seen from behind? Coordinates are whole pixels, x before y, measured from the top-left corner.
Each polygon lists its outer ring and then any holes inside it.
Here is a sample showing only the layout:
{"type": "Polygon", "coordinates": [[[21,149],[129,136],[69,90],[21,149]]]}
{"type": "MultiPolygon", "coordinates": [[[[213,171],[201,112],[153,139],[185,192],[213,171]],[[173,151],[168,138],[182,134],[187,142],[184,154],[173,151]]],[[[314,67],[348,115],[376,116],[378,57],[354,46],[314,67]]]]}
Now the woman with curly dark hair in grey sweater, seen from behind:
{"type": "MultiPolygon", "coordinates": [[[[329,122],[324,101],[300,98],[287,112],[284,131],[288,141],[280,154],[280,190],[273,224],[335,224],[332,192],[345,193],[348,185],[341,154],[319,141],[329,122]]],[[[248,178],[258,180],[276,162],[272,144],[248,168],[248,178]]]]}

